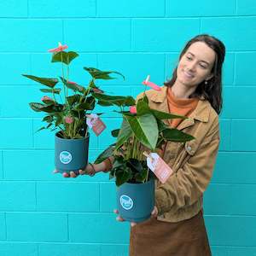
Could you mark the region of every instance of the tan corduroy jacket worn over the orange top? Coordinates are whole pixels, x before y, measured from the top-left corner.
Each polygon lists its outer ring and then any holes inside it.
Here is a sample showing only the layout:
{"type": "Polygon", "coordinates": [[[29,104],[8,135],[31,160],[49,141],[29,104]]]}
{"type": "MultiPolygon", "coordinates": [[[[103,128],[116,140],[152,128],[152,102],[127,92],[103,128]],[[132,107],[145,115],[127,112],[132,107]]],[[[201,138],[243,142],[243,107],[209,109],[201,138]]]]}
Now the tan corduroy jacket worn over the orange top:
{"type": "MultiPolygon", "coordinates": [[[[169,112],[166,89],[164,86],[160,91],[146,91],[150,108],[169,112]]],[[[208,101],[200,100],[194,112],[177,125],[177,129],[195,139],[166,144],[163,159],[172,167],[173,174],[164,184],[157,181],[155,189],[158,219],[166,222],[192,218],[201,210],[202,195],[212,177],[218,153],[218,114],[208,101]]]]}

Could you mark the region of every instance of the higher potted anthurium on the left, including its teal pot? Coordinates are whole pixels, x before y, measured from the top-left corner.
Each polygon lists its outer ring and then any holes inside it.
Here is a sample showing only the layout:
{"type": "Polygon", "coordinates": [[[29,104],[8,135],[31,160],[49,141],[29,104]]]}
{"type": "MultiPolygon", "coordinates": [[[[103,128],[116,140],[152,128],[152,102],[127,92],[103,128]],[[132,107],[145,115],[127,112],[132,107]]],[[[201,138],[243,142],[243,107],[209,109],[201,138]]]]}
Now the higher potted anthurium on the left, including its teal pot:
{"type": "Polygon", "coordinates": [[[67,45],[61,43],[57,48],[49,49],[52,53],[51,62],[61,62],[61,76],[58,78],[40,78],[28,74],[23,76],[46,86],[40,90],[51,96],[43,96],[42,102],[31,102],[29,105],[33,111],[45,113],[42,121],[47,125],[38,131],[55,131],[55,169],[56,172],[67,174],[83,169],[88,162],[90,134],[86,119],[98,102],[93,93],[104,95],[96,86],[96,79],[113,79],[109,76],[110,73],[124,76],[114,71],[84,67],[91,76],[89,84],[84,87],[72,82],[69,79],[69,66],[79,54],[65,49],[67,45]]]}

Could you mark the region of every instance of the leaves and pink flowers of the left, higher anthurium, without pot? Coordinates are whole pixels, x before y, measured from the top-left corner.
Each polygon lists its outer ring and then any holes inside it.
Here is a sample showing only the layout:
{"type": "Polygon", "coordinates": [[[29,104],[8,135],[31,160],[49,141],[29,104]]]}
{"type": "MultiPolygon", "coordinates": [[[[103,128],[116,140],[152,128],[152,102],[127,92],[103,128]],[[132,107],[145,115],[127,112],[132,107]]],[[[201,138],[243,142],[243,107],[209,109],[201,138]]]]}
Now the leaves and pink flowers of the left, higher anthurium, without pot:
{"type": "MultiPolygon", "coordinates": [[[[88,126],[86,116],[91,113],[98,102],[94,93],[104,95],[104,92],[96,86],[97,79],[114,79],[111,73],[115,71],[101,71],[95,67],[84,67],[84,71],[90,73],[91,79],[86,86],[75,83],[69,79],[71,62],[79,54],[74,51],[65,51],[67,45],[49,49],[52,53],[51,62],[61,62],[61,75],[57,78],[41,78],[34,75],[23,74],[27,79],[32,79],[44,85],[40,90],[49,96],[43,96],[41,102],[29,103],[33,111],[45,113],[43,121],[46,126],[40,128],[58,131],[58,136],[67,139],[86,137],[88,126]]],[[[111,97],[111,96],[110,96],[111,97]]],[[[99,100],[100,101],[100,100],[99,100]]],[[[103,104],[104,105],[104,102],[103,104]]]]}

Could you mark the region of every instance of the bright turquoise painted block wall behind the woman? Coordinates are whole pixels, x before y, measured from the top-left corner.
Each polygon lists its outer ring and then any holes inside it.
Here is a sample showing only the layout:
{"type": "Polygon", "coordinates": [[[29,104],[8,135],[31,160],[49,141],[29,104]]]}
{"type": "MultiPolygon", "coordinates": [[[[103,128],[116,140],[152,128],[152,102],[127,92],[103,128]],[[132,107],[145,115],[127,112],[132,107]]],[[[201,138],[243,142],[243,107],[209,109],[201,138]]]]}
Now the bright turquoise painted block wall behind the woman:
{"type": "MultiPolygon", "coordinates": [[[[80,57],[71,79],[88,81],[82,67],[118,70],[102,83],[136,96],[149,73],[162,84],[192,36],[222,39],[224,111],[221,146],[205,195],[213,256],[256,255],[256,1],[254,0],[9,0],[0,3],[0,255],[128,255],[129,225],[119,224],[108,176],[64,179],[53,175],[53,137],[35,133],[40,116],[27,103],[41,98],[21,73],[55,76],[47,49],[61,41],[80,57]]],[[[119,125],[91,137],[90,160],[112,142],[119,125]]]]}

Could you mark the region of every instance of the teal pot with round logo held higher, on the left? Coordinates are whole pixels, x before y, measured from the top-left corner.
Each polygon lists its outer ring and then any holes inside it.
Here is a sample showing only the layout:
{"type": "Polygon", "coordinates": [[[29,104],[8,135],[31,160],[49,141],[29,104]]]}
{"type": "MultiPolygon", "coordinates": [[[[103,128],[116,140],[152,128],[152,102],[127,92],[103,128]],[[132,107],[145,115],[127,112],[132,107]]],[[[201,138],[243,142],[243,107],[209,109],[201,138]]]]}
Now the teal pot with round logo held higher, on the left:
{"type": "Polygon", "coordinates": [[[78,172],[88,163],[89,133],[80,139],[65,139],[55,134],[55,169],[78,172]]]}

